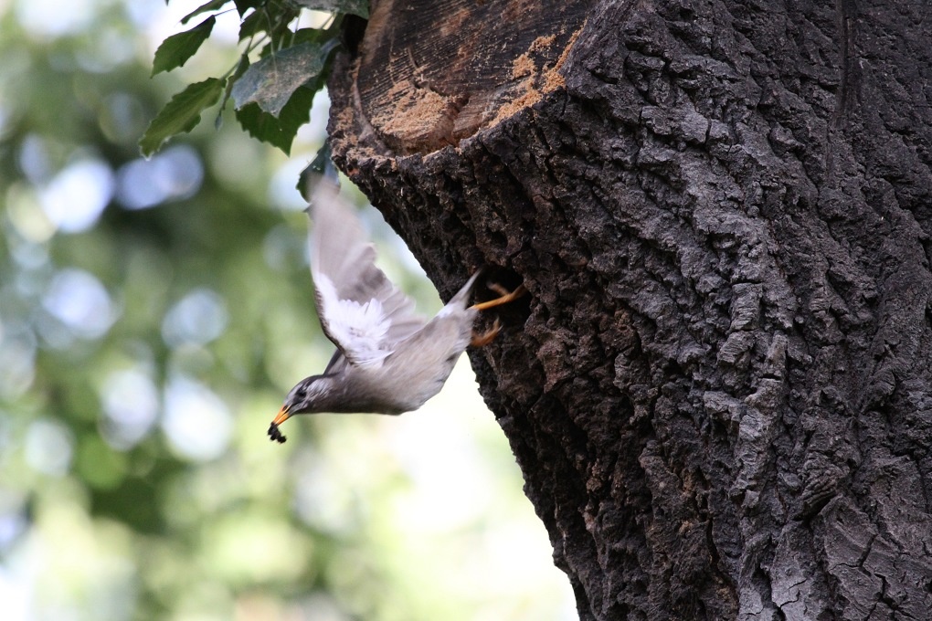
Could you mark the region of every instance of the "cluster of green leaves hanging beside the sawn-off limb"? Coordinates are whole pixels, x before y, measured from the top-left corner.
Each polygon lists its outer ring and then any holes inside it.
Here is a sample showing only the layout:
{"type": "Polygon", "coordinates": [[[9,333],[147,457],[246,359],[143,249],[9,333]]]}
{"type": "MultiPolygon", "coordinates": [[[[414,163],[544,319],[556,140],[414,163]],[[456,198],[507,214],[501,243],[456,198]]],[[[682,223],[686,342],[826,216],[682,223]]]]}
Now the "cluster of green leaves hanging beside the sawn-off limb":
{"type": "Polygon", "coordinates": [[[308,122],[314,95],[323,88],[343,18],[368,19],[368,5],[368,0],[210,0],[191,11],[182,18],[183,24],[209,15],[162,42],[152,75],[184,66],[210,37],[216,16],[226,11],[235,9],[240,16],[244,48],[226,74],[188,85],[171,98],[139,142],[143,155],[155,154],[172,136],[195,128],[202,113],[217,101],[221,101],[219,123],[231,98],[243,129],[289,153],[298,128],[308,122]],[[326,11],[333,17],[322,28],[298,28],[303,9],[326,11]]]}

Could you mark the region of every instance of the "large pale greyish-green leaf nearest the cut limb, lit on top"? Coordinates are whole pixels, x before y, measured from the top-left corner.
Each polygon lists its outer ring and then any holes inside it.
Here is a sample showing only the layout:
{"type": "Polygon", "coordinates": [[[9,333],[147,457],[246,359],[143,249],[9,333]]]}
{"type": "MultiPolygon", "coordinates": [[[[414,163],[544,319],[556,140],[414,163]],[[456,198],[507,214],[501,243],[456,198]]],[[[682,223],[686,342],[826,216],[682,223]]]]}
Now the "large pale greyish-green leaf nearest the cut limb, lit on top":
{"type": "Polygon", "coordinates": [[[264,112],[278,116],[298,88],[322,74],[336,43],[336,39],[324,45],[302,43],[256,62],[233,86],[237,109],[257,103],[264,112]]]}

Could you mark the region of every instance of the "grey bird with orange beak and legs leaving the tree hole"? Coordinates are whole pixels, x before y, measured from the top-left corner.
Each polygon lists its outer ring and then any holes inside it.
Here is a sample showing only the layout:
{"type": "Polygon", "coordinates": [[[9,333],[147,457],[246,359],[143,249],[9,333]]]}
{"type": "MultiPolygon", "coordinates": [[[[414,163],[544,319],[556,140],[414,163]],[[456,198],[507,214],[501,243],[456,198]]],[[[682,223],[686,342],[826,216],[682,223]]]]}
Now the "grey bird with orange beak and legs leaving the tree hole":
{"type": "Polygon", "coordinates": [[[523,284],[509,291],[492,283],[498,298],[467,305],[479,269],[427,320],[377,268],[375,247],[336,182],[321,178],[306,210],[314,301],[336,352],[321,374],[288,392],[268,427],[273,441],[285,441],[279,425],[296,414],[417,410],[440,392],[468,345],[483,346],[499,333],[498,318],[490,330],[474,332],[478,313],[527,293],[523,284]]]}

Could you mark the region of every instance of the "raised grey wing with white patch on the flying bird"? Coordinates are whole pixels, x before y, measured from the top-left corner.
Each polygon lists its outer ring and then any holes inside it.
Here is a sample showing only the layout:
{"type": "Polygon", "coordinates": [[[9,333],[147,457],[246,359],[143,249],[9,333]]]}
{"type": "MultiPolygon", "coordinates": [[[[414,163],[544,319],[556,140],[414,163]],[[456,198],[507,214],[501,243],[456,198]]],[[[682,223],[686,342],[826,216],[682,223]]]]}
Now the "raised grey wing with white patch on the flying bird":
{"type": "Polygon", "coordinates": [[[334,182],[322,179],[308,210],[317,312],[327,338],[350,364],[377,365],[426,320],[376,267],[376,249],[338,192],[334,182]]]}

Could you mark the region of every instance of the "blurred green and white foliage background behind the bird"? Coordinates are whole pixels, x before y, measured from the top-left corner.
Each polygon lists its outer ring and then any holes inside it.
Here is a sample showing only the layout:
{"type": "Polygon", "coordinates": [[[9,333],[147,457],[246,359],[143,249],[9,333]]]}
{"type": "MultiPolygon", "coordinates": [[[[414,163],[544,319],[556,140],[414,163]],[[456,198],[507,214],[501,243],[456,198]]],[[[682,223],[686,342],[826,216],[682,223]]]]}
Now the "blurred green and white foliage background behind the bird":
{"type": "Polygon", "coordinates": [[[333,350],[294,189],[327,101],[291,157],[227,111],[141,159],[171,94],[237,59],[233,13],[149,78],[198,4],[0,0],[0,618],[576,618],[467,358],[419,412],[267,439],[333,350]]]}

